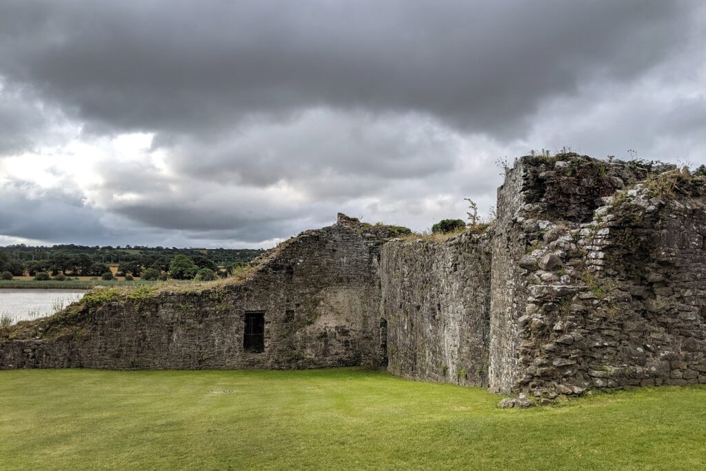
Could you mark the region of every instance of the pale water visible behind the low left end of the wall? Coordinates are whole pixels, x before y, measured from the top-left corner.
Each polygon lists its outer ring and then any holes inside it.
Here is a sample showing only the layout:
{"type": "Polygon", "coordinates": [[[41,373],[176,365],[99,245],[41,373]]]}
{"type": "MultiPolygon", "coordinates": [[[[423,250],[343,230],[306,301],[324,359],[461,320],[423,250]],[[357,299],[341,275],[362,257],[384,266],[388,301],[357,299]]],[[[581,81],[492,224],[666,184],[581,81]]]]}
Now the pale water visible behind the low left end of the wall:
{"type": "Polygon", "coordinates": [[[83,297],[85,290],[0,290],[0,316],[15,321],[49,316],[83,297]]]}

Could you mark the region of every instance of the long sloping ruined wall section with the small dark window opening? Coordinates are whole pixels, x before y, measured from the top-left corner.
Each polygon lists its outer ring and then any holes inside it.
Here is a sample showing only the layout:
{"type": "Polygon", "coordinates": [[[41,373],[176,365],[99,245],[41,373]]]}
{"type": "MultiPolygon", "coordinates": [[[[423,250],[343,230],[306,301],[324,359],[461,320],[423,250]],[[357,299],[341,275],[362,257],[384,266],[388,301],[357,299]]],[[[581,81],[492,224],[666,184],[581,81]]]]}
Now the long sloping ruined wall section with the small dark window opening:
{"type": "MultiPolygon", "coordinates": [[[[394,232],[394,231],[393,231],[394,232]]],[[[380,244],[388,227],[339,224],[275,249],[242,285],[86,304],[0,341],[0,368],[314,368],[380,364],[380,244]],[[244,351],[245,315],[265,351],[244,351]],[[53,329],[53,330],[52,330],[53,329]],[[52,337],[56,331],[59,338],[52,337]]]]}

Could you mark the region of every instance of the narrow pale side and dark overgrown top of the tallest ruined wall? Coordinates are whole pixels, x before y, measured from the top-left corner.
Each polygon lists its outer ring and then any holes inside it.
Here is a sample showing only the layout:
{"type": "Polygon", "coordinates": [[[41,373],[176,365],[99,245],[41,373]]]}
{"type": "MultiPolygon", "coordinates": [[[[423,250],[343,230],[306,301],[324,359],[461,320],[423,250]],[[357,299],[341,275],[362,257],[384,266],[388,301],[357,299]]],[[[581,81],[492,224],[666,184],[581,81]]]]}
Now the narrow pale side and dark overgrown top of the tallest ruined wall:
{"type": "Polygon", "coordinates": [[[602,198],[635,184],[647,170],[578,155],[522,157],[498,189],[498,221],[491,275],[490,388],[520,389],[526,340],[520,318],[530,299],[530,280],[522,259],[542,243],[551,221],[578,224],[590,219],[602,198]]]}

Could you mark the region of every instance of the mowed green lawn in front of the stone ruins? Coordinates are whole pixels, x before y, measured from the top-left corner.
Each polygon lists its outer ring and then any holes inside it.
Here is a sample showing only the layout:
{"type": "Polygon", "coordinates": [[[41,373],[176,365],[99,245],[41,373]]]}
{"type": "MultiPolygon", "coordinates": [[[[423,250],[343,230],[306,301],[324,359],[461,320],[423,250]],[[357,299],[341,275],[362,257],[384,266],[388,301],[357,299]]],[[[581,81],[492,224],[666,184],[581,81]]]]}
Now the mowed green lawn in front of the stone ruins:
{"type": "Polygon", "coordinates": [[[706,388],[500,410],[366,369],[0,371],[0,469],[706,467],[706,388]]]}

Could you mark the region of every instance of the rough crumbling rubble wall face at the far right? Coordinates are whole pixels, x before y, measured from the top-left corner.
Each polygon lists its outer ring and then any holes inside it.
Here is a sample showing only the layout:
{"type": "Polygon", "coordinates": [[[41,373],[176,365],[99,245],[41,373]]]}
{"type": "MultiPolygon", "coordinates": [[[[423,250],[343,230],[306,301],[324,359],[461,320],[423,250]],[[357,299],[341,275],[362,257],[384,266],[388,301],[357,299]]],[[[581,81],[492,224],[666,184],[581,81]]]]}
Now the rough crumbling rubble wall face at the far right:
{"type": "Polygon", "coordinates": [[[589,223],[552,225],[525,258],[515,392],[706,383],[706,192],[662,178],[681,193],[619,192],[589,223]]]}

